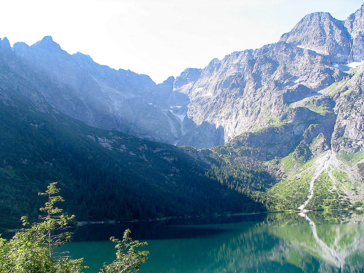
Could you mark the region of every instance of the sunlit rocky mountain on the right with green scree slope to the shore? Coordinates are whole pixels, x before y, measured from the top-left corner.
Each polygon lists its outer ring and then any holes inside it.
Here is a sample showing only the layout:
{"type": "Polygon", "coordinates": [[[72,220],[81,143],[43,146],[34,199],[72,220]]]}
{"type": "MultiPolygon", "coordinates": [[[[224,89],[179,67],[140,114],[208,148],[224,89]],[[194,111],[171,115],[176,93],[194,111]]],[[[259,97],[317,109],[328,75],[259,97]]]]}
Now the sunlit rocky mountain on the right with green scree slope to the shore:
{"type": "Polygon", "coordinates": [[[363,10],[345,21],[306,15],[277,43],[187,69],[174,82],[195,123],[223,128],[225,146],[213,153],[233,169],[258,164],[272,176],[254,188],[270,210],[363,204],[363,10]]]}

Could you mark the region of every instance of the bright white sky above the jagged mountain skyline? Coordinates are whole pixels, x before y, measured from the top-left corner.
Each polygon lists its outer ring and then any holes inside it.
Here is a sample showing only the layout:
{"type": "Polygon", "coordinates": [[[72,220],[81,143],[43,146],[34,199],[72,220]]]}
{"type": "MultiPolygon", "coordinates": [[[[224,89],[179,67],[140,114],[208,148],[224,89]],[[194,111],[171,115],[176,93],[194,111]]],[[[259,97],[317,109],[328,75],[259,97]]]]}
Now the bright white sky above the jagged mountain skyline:
{"type": "Polygon", "coordinates": [[[275,43],[306,14],[345,20],[363,0],[12,0],[0,37],[29,46],[44,36],[69,54],[149,75],[155,83],[214,58],[275,43]]]}

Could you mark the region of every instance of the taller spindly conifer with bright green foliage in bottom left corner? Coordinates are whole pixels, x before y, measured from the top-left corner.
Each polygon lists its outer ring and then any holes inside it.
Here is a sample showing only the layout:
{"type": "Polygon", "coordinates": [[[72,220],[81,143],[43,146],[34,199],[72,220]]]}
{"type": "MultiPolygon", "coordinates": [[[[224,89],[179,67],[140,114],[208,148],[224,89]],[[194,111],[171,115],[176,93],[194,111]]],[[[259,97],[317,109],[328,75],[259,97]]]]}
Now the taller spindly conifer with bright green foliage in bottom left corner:
{"type": "MultiPolygon", "coordinates": [[[[43,221],[15,233],[8,242],[0,238],[1,273],[79,273],[87,268],[82,266],[83,258],[53,257],[57,246],[71,240],[71,233],[54,234],[54,231],[66,227],[74,218],[74,215],[64,215],[62,209],[54,206],[56,202],[64,201],[56,186],[57,182],[51,183],[45,193],[38,193],[48,197],[48,202],[40,208],[44,215],[39,218],[43,221]]],[[[26,216],[21,219],[23,226],[29,224],[26,216]]]]}

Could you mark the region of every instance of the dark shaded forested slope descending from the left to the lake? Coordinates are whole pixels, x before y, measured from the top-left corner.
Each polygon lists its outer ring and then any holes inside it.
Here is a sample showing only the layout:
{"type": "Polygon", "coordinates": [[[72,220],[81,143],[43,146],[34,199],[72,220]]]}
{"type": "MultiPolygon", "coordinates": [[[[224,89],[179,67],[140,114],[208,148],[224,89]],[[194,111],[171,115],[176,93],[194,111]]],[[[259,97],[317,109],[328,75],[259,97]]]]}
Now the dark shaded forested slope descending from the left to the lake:
{"type": "MultiPolygon", "coordinates": [[[[2,50],[2,48],[1,48],[2,50]]],[[[33,220],[37,193],[59,181],[79,221],[265,210],[173,145],[90,127],[56,110],[0,56],[0,226],[33,220]],[[28,95],[32,94],[31,99],[28,95]]]]}

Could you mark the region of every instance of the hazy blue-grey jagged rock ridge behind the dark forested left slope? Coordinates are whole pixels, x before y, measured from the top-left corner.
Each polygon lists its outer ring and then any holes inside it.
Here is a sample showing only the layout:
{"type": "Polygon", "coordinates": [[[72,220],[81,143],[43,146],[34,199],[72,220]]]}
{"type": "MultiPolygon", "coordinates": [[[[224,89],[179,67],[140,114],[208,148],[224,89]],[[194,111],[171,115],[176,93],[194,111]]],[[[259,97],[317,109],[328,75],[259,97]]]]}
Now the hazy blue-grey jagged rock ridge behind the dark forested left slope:
{"type": "MultiPolygon", "coordinates": [[[[186,116],[189,98],[174,92],[174,78],[155,84],[147,75],[100,66],[90,56],[66,51],[46,36],[32,46],[1,41],[4,60],[26,78],[59,111],[98,128],[175,144],[194,135],[199,148],[223,143],[221,130],[209,130],[186,116]],[[206,135],[208,134],[208,135],[206,135]]],[[[32,97],[34,94],[27,94],[32,97]]],[[[190,139],[190,140],[189,140],[190,139]]]]}

